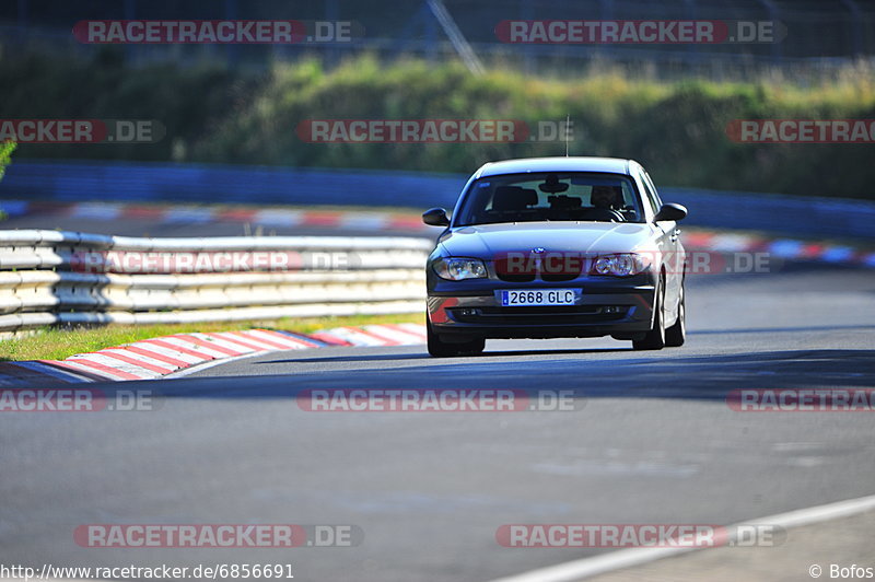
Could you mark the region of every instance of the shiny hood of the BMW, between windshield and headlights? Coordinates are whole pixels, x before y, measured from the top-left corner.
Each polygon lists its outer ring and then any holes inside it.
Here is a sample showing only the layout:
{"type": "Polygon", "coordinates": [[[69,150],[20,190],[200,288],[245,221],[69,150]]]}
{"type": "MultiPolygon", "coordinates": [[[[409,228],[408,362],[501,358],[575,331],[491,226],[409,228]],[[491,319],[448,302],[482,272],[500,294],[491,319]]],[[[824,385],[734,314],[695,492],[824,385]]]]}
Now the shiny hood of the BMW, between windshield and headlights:
{"type": "Polygon", "coordinates": [[[499,253],[626,253],[646,246],[654,226],[615,222],[527,222],[453,229],[440,240],[445,255],[490,258],[499,253]]]}

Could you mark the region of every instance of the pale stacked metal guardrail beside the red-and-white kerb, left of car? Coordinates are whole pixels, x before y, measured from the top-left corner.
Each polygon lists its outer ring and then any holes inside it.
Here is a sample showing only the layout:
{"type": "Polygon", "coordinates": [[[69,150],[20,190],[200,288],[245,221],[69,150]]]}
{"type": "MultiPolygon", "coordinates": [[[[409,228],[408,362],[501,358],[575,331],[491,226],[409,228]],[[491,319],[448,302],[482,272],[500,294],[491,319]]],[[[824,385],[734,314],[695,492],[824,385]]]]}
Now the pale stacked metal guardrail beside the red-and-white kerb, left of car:
{"type": "Polygon", "coordinates": [[[0,331],[413,313],[430,249],[410,237],[0,231],[0,331]]]}

